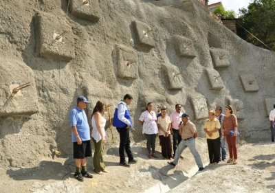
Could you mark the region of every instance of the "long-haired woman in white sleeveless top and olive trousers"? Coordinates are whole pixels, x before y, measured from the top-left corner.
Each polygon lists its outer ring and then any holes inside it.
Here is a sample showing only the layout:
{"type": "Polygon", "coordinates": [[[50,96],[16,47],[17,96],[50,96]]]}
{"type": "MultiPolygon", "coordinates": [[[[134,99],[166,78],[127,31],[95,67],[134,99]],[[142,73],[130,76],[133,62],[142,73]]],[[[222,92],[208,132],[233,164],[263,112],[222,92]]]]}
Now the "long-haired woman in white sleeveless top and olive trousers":
{"type": "Polygon", "coordinates": [[[105,170],[104,158],[103,158],[103,146],[105,143],[105,124],[106,120],[104,117],[104,102],[98,101],[94,107],[94,111],[91,114],[91,126],[93,130],[91,137],[94,141],[95,152],[94,152],[94,171],[98,174],[107,173],[105,170]]]}

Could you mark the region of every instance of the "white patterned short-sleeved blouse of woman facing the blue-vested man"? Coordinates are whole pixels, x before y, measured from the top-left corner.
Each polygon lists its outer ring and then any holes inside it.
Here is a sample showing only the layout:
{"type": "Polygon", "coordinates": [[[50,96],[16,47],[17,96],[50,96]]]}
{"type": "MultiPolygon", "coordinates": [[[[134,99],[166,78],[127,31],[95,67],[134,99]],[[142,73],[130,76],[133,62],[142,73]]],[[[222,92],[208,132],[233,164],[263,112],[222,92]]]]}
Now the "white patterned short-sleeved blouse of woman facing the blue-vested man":
{"type": "Polygon", "coordinates": [[[143,122],[142,134],[157,134],[159,133],[159,128],[157,128],[157,116],[154,111],[151,111],[152,115],[148,111],[144,111],[140,115],[140,121],[143,122]]]}

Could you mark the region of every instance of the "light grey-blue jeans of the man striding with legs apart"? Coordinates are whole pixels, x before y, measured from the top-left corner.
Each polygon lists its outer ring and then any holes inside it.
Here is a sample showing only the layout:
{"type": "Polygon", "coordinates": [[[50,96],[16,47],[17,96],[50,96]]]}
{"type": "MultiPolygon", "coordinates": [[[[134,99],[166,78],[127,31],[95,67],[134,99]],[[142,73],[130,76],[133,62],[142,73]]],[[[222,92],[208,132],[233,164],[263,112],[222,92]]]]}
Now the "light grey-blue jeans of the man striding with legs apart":
{"type": "Polygon", "coordinates": [[[179,146],[177,147],[177,150],[175,152],[175,157],[173,163],[177,165],[177,161],[179,161],[179,157],[181,153],[186,149],[189,148],[190,152],[192,155],[195,157],[195,161],[197,163],[197,166],[199,168],[203,168],[202,162],[201,162],[201,157],[199,156],[199,152],[197,152],[196,149],[196,143],[194,137],[191,139],[184,140],[182,139],[181,142],[179,143],[179,146]]]}

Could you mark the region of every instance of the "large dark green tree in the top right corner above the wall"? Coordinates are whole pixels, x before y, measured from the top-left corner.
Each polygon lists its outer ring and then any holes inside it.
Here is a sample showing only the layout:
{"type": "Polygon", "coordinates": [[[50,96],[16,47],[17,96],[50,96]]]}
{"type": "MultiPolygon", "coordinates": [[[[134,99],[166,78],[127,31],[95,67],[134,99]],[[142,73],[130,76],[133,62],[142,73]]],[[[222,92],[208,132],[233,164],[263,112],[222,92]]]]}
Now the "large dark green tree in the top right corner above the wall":
{"type": "MultiPolygon", "coordinates": [[[[248,9],[239,10],[243,19],[243,27],[254,34],[265,45],[275,48],[275,0],[254,0],[248,9]]],[[[248,32],[245,32],[241,38],[256,46],[268,49],[248,32]]]]}

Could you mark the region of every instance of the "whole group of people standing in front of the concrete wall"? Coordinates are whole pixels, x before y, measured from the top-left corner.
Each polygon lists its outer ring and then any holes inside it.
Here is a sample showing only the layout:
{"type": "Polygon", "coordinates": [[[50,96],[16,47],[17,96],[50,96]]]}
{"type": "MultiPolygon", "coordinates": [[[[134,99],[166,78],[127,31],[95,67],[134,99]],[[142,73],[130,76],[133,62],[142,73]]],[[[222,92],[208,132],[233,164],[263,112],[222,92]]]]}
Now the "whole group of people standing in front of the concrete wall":
{"type": "MultiPolygon", "coordinates": [[[[130,164],[137,163],[131,152],[131,141],[129,130],[133,128],[129,104],[133,97],[129,94],[124,95],[123,100],[118,103],[115,108],[113,117],[113,126],[116,127],[120,134],[120,165],[130,167],[130,164]],[[128,156],[126,161],[124,152],[128,156]]],[[[98,101],[91,114],[91,126],[89,129],[85,107],[89,101],[81,96],[77,99],[77,105],[70,113],[70,123],[72,126],[72,141],[74,144],[74,159],[76,163],[75,177],[79,181],[83,181],[83,177],[93,178],[93,175],[87,172],[87,157],[91,157],[91,137],[94,141],[94,172],[97,174],[107,173],[104,166],[104,143],[106,120],[104,119],[105,104],[98,101]],[[91,137],[90,137],[91,136],[91,137]]],[[[155,139],[158,136],[162,146],[162,157],[168,159],[168,163],[176,166],[179,158],[183,158],[181,153],[185,148],[189,148],[195,157],[199,171],[203,170],[203,164],[199,152],[195,146],[195,138],[197,137],[197,129],[195,124],[190,122],[189,115],[181,113],[181,105],[175,105],[175,112],[170,116],[167,113],[167,107],[162,106],[159,114],[153,111],[153,103],[149,102],[146,111],[140,115],[139,123],[142,125],[142,133],[146,137],[146,148],[148,150],[148,158],[158,158],[155,153],[155,139]],[[173,148],[170,135],[173,136],[173,148]]],[[[236,164],[236,116],[233,114],[232,106],[225,106],[225,115],[221,114],[221,106],[217,106],[215,111],[209,111],[209,119],[203,127],[206,132],[210,165],[217,164],[219,161],[226,159],[226,142],[228,144],[230,159],[228,163],[236,164]],[[230,134],[230,131],[233,135],[230,134]],[[225,139],[224,139],[225,138],[225,139]]]]}

